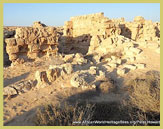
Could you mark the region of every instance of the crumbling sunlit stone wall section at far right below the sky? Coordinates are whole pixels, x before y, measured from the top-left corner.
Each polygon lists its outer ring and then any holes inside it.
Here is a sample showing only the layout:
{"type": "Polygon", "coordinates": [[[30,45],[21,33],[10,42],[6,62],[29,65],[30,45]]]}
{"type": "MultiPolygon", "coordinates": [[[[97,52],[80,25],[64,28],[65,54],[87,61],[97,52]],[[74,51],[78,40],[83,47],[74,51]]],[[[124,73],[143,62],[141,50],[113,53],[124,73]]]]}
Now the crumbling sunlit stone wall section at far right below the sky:
{"type": "Polygon", "coordinates": [[[121,21],[119,26],[121,35],[135,41],[158,41],[160,39],[160,23],[145,20],[142,16],[136,16],[133,22],[121,21]]]}

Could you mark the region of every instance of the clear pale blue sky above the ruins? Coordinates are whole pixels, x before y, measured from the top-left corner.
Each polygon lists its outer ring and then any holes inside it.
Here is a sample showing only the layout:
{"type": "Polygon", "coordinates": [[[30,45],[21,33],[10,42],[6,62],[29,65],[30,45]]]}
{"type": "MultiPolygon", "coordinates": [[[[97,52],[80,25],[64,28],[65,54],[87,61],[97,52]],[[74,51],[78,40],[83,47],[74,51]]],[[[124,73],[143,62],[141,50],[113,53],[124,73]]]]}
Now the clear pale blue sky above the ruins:
{"type": "Polygon", "coordinates": [[[3,6],[5,26],[31,26],[34,21],[41,21],[48,26],[61,26],[72,16],[104,12],[108,18],[124,17],[132,21],[135,16],[160,21],[159,3],[5,3],[3,6]]]}

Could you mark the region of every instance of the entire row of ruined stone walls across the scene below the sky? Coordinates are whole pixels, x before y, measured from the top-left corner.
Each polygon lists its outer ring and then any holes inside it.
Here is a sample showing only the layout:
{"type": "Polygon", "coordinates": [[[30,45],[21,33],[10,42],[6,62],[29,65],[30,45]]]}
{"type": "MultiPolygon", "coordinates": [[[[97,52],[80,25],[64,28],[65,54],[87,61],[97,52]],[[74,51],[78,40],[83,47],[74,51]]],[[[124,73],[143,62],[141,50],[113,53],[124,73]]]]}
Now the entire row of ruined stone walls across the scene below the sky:
{"type": "MultiPolygon", "coordinates": [[[[23,63],[57,52],[98,53],[100,56],[108,52],[120,52],[133,55],[129,49],[132,49],[134,42],[139,41],[146,46],[147,41],[158,41],[155,47],[159,48],[159,39],[159,22],[154,23],[141,16],[135,17],[133,22],[126,22],[124,18],[109,19],[104,13],[96,13],[71,17],[63,26],[63,35],[55,27],[47,27],[41,22],[34,22],[32,27],[18,27],[14,36],[5,37],[4,46],[10,61],[23,63]]],[[[140,50],[133,48],[132,51],[139,53],[140,50]]]]}

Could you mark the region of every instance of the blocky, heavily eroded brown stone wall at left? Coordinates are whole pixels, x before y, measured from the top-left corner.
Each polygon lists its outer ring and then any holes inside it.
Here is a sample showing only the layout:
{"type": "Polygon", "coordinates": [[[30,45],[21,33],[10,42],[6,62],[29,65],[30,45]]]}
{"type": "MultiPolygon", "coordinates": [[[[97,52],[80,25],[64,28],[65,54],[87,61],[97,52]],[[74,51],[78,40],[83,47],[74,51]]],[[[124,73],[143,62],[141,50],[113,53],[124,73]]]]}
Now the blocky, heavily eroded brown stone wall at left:
{"type": "MultiPolygon", "coordinates": [[[[35,23],[36,24],[36,23],[35,23]]],[[[58,36],[55,27],[17,28],[14,38],[6,38],[6,51],[13,63],[23,63],[44,55],[56,54],[58,36]]]]}

